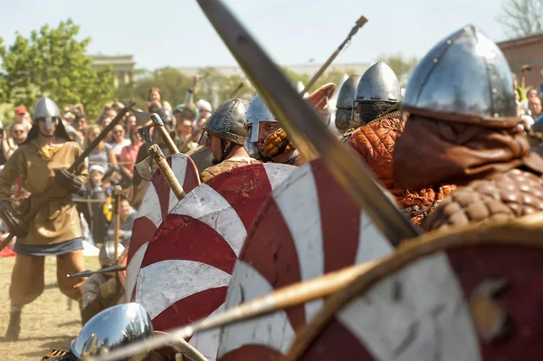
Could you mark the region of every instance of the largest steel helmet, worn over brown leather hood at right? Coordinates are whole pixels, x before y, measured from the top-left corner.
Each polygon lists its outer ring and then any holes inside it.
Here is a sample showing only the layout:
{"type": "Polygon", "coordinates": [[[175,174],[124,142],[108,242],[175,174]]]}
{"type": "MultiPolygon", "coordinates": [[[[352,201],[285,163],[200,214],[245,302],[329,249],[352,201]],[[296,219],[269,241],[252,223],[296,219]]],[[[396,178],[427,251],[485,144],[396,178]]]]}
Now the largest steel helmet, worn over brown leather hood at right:
{"type": "Polygon", "coordinates": [[[500,48],[473,25],[437,43],[414,69],[405,90],[411,113],[475,116],[484,123],[516,118],[515,88],[500,48]]]}

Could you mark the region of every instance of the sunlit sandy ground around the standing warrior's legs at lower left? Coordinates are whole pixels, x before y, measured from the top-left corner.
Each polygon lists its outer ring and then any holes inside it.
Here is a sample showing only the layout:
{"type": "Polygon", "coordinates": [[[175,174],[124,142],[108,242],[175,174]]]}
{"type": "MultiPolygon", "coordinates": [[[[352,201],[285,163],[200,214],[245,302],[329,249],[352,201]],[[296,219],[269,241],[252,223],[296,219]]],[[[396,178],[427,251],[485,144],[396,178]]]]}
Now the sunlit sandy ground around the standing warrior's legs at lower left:
{"type": "MultiPolygon", "coordinates": [[[[67,349],[81,329],[78,303],[69,301],[57,288],[56,259],[45,261],[45,290],[23,309],[21,335],[17,342],[5,342],[9,322],[8,289],[13,258],[0,258],[0,355],[3,360],[41,360],[52,348],[67,349]]],[[[86,257],[85,268],[99,269],[98,257],[86,257]]]]}

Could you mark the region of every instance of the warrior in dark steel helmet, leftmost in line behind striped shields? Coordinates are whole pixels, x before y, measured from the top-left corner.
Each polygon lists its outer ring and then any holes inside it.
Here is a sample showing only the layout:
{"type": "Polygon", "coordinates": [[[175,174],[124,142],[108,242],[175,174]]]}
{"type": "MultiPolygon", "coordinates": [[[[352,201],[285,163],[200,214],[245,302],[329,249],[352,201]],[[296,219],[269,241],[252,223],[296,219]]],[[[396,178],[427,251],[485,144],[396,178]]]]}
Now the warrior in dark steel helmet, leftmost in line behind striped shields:
{"type": "Polygon", "coordinates": [[[200,174],[202,182],[238,166],[260,163],[249,157],[243,147],[247,135],[244,128],[246,111],[243,100],[226,100],[205,124],[205,146],[213,153],[214,166],[200,174]]]}

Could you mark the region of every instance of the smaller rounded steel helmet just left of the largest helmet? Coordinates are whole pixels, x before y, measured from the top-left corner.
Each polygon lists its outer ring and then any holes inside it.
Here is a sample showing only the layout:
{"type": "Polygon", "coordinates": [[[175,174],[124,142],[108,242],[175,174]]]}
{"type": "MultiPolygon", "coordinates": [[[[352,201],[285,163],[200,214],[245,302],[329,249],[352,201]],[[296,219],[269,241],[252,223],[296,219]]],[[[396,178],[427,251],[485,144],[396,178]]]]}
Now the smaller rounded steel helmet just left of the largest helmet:
{"type": "Polygon", "coordinates": [[[357,101],[402,101],[400,81],[395,72],[384,62],[370,66],[358,81],[357,101]]]}

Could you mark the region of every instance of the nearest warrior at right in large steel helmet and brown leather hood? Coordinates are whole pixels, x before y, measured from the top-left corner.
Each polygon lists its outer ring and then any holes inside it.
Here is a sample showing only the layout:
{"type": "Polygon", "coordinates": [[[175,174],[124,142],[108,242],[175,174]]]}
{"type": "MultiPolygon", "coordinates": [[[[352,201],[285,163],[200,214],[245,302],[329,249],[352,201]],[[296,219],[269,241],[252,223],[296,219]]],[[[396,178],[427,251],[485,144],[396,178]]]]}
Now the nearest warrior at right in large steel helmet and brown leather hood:
{"type": "Polygon", "coordinates": [[[415,68],[403,104],[410,117],[395,146],[395,184],[458,186],[425,230],[543,211],[543,159],[529,151],[514,92],[500,49],[472,25],[415,68]]]}

